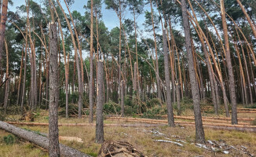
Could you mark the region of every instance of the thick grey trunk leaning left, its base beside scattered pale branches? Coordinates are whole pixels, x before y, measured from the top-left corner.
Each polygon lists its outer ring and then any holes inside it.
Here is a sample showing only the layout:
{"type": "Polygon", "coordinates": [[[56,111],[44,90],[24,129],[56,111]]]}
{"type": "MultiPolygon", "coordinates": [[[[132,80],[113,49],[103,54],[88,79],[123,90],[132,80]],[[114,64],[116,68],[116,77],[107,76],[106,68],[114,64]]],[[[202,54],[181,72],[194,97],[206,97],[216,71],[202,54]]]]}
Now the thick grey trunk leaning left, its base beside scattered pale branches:
{"type": "Polygon", "coordinates": [[[181,10],[182,10],[182,20],[183,20],[184,31],[185,31],[185,43],[186,43],[186,49],[188,53],[188,72],[189,72],[189,79],[192,87],[192,99],[194,104],[194,114],[195,114],[195,123],[196,123],[196,141],[199,143],[205,143],[202,115],[200,110],[199,89],[198,89],[198,82],[196,81],[196,71],[194,68],[192,44],[190,40],[190,27],[188,24],[188,13],[187,13],[187,5],[185,0],[181,0],[181,10]]]}

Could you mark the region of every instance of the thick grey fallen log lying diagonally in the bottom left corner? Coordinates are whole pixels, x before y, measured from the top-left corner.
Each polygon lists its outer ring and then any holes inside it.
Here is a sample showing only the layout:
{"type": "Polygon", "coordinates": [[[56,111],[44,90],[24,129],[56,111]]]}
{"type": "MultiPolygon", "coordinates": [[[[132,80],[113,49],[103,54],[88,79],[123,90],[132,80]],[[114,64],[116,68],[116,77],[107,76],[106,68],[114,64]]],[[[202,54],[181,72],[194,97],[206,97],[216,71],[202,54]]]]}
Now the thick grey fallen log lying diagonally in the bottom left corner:
{"type": "MultiPolygon", "coordinates": [[[[42,135],[39,135],[37,133],[23,130],[19,127],[10,125],[6,122],[0,121],[0,129],[5,130],[9,133],[13,133],[14,135],[26,140],[30,141],[33,144],[37,144],[38,146],[49,149],[49,139],[47,137],[44,137],[42,135]]],[[[82,152],[79,152],[78,150],[74,148],[70,148],[64,144],[60,144],[60,155],[61,156],[75,156],[75,157],[90,157],[90,155],[86,155],[82,152]]]]}

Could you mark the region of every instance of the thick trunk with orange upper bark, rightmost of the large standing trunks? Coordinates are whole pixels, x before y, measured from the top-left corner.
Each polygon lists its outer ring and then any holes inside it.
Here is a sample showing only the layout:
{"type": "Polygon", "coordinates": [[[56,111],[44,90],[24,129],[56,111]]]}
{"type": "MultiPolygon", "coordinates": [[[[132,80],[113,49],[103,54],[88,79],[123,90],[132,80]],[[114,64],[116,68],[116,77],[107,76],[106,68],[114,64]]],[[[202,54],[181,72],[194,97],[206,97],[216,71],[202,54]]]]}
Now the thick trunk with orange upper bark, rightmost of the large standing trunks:
{"type": "Polygon", "coordinates": [[[236,112],[236,85],[234,80],[233,68],[231,63],[230,57],[230,49],[229,49],[229,35],[228,35],[228,27],[226,23],[225,17],[225,6],[224,1],[221,0],[221,19],[222,19],[222,26],[223,26],[223,33],[225,39],[225,51],[226,51],[226,63],[229,71],[229,94],[232,104],[232,124],[237,124],[237,112],[236,112]]]}

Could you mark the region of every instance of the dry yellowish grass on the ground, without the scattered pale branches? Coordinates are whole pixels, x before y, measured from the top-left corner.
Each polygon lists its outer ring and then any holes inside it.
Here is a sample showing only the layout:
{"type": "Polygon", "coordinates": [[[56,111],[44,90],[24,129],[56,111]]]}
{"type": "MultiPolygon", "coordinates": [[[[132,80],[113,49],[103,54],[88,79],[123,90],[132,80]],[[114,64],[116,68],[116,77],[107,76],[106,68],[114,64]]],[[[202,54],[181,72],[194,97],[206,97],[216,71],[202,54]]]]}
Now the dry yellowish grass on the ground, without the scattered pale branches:
{"type": "MultiPolygon", "coordinates": [[[[184,114],[192,115],[192,110],[187,110],[184,114]]],[[[250,115],[250,114],[247,114],[250,115]]],[[[214,116],[212,114],[208,116],[214,116]]],[[[251,115],[255,116],[255,115],[251,115]]],[[[241,116],[239,116],[241,117],[241,116]]],[[[35,118],[35,122],[48,122],[47,115],[38,115],[35,118]]],[[[88,119],[64,119],[60,118],[59,122],[88,122],[88,119]]],[[[119,121],[105,120],[104,123],[118,123],[119,121]]],[[[122,122],[119,122],[122,123],[122,122]]],[[[127,123],[127,122],[125,122],[127,123]]],[[[48,126],[20,126],[28,130],[35,130],[42,133],[48,133],[48,126]]],[[[78,143],[75,141],[60,141],[62,144],[78,149],[86,154],[97,156],[97,152],[101,148],[101,144],[95,144],[95,128],[93,126],[60,126],[60,136],[74,136],[82,138],[84,143],[78,143]]],[[[42,151],[34,144],[28,142],[18,142],[15,144],[7,145],[2,141],[4,136],[9,133],[5,133],[0,130],[0,157],[13,157],[13,156],[26,156],[26,157],[41,157],[48,156],[47,152],[42,151]]],[[[256,133],[244,133],[239,131],[226,131],[226,130],[210,130],[205,129],[206,139],[211,141],[225,141],[229,145],[233,146],[245,146],[249,149],[251,154],[256,154],[256,133]]],[[[195,144],[195,128],[192,126],[174,128],[168,126],[159,127],[139,127],[139,128],[125,128],[125,127],[104,127],[105,140],[114,141],[127,141],[133,144],[135,148],[143,152],[148,156],[233,156],[224,155],[222,152],[209,152],[203,148],[198,148],[195,144]],[[158,130],[160,133],[164,133],[165,136],[155,136],[151,131],[158,130]],[[154,140],[166,140],[170,138],[171,141],[176,139],[187,142],[184,147],[177,146],[176,144],[155,142],[154,140]]],[[[236,156],[246,156],[243,154],[236,154],[236,156]]]]}

